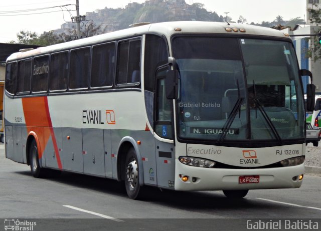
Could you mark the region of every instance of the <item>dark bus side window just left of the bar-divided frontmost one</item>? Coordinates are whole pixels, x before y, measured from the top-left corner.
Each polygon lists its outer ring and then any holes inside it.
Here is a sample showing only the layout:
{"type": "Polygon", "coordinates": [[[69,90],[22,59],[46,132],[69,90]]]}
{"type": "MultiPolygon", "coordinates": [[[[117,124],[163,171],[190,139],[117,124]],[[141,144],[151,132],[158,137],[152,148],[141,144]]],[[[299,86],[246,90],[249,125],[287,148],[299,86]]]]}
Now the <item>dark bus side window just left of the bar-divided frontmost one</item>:
{"type": "Polygon", "coordinates": [[[91,87],[113,85],[115,65],[115,43],[94,46],[91,60],[91,87]]]}

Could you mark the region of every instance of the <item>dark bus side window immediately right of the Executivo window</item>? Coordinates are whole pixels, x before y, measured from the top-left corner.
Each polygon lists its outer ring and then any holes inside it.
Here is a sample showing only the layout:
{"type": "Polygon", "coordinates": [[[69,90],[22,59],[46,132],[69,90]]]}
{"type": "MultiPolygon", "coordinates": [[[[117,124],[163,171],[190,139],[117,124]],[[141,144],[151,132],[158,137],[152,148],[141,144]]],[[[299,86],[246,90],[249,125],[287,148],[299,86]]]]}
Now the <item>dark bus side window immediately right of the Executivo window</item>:
{"type": "Polygon", "coordinates": [[[66,90],[68,79],[68,52],[52,54],[50,57],[50,84],[51,91],[66,90]]]}

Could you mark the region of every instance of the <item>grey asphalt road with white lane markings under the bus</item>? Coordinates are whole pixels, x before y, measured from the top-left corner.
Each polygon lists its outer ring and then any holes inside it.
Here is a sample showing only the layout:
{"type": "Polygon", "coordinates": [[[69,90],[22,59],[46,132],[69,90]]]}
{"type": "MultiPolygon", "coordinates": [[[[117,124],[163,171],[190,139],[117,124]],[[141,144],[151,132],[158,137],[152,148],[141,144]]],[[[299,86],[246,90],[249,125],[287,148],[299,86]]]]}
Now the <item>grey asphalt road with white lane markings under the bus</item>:
{"type": "Polygon", "coordinates": [[[241,200],[221,191],[144,189],[143,200],[131,200],[115,180],[68,172],[34,178],[28,165],[6,159],[0,144],[0,230],[9,219],[26,221],[20,226],[36,220],[33,230],[248,230],[254,220],[266,227],[279,221],[284,229],[278,230],[287,230],[283,222],[290,218],[321,229],[321,219],[314,219],[321,217],[320,176],[305,174],[296,189],[252,190],[241,200]]]}

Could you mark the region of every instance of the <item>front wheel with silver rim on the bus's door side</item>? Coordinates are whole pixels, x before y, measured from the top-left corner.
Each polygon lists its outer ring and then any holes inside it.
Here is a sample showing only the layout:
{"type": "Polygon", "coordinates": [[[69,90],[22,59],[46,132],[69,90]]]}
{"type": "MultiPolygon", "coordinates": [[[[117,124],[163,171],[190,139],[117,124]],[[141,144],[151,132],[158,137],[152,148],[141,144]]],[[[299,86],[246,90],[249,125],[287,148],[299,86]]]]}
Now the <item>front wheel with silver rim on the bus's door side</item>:
{"type": "Polygon", "coordinates": [[[138,199],[140,192],[139,166],[134,148],[130,148],[124,165],[124,180],[127,195],[130,199],[138,199]]]}

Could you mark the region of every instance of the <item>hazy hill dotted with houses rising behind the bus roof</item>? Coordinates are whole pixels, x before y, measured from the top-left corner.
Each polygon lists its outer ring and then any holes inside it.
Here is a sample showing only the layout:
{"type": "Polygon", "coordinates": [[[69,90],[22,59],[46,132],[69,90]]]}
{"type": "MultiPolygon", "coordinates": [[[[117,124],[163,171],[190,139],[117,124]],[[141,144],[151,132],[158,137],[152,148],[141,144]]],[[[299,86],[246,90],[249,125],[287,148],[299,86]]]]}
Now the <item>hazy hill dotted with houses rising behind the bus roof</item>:
{"type": "Polygon", "coordinates": [[[208,12],[202,4],[189,5],[185,0],[150,0],[143,4],[130,3],[124,9],[105,8],[86,13],[87,20],[96,26],[102,25],[104,32],[128,28],[140,22],[212,21],[223,22],[216,12],[208,12]]]}

